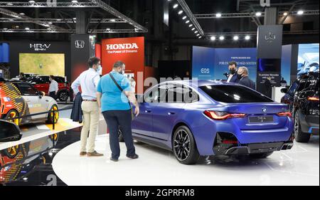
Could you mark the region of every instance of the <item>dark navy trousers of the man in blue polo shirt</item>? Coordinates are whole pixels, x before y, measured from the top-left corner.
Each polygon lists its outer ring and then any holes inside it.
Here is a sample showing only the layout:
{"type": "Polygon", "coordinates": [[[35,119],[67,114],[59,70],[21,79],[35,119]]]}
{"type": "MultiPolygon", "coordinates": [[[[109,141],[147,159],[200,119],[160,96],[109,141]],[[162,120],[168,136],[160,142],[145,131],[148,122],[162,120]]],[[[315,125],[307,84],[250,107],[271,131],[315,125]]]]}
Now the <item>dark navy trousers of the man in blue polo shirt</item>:
{"type": "Polygon", "coordinates": [[[122,132],[124,142],[127,146],[127,156],[136,154],[131,129],[131,110],[110,110],[102,112],[110,132],[110,148],[112,158],[118,159],[120,156],[118,130],[122,132]]]}

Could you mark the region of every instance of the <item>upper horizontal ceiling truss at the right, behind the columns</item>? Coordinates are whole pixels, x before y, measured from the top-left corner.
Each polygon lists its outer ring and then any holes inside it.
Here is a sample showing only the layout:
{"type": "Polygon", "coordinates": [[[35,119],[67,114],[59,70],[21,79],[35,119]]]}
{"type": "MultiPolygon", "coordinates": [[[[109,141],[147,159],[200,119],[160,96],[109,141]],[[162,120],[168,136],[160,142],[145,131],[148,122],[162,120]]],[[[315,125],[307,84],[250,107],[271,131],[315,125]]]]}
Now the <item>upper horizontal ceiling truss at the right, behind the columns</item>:
{"type": "MultiPolygon", "coordinates": [[[[284,16],[285,11],[279,12],[279,16],[284,16]]],[[[297,15],[297,11],[291,11],[288,15],[297,15]]],[[[319,10],[304,11],[304,15],[319,15],[319,10]]],[[[217,17],[216,14],[195,14],[196,19],[217,19],[217,18],[251,18],[255,13],[234,13],[234,14],[221,14],[217,17]]],[[[260,17],[264,17],[265,13],[261,13],[260,17]]]]}

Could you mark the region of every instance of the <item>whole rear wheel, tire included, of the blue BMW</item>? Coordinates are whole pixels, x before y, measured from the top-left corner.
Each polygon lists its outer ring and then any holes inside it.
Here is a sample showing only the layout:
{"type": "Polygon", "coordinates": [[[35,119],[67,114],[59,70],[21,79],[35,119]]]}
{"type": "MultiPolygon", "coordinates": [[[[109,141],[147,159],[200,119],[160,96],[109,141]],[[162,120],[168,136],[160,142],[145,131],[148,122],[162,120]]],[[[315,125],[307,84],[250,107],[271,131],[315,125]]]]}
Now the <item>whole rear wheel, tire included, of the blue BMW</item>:
{"type": "Polygon", "coordinates": [[[200,158],[196,141],[191,130],[186,126],[178,127],[174,132],[172,150],[181,164],[196,164],[200,158]]]}

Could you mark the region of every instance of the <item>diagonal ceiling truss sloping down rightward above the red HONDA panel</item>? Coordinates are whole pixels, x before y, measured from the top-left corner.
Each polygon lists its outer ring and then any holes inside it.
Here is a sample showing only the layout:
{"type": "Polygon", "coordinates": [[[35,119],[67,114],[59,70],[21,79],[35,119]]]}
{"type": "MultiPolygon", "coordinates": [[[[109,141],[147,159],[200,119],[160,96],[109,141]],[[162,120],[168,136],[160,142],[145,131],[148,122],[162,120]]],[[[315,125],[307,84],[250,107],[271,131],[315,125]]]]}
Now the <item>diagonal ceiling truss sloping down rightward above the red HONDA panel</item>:
{"type": "Polygon", "coordinates": [[[101,1],[101,0],[89,0],[91,3],[97,5],[100,7],[100,9],[103,9],[107,12],[109,12],[110,14],[116,16],[119,19],[123,19],[124,21],[127,21],[127,23],[131,24],[132,26],[134,26],[135,28],[138,28],[140,30],[143,31],[143,33],[147,33],[148,29],[144,28],[144,26],[140,25],[139,23],[133,21],[132,19],[130,19],[129,17],[125,16],[124,14],[120,13],[119,11],[117,11],[117,9],[112,8],[111,6],[109,6],[108,4],[106,4],[105,2],[101,1]]]}

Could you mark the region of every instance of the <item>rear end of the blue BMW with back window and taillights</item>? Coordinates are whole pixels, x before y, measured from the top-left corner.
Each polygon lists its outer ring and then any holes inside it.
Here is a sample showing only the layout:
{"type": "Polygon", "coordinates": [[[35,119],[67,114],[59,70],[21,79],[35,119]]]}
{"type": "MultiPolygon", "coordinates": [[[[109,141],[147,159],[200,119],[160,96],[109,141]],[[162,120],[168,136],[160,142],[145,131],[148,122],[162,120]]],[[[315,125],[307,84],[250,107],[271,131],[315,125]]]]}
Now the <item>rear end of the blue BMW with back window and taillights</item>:
{"type": "Polygon", "coordinates": [[[260,154],[291,149],[293,120],[287,105],[241,85],[202,86],[218,106],[203,115],[215,125],[214,154],[260,154]]]}

